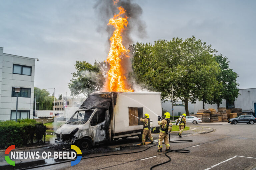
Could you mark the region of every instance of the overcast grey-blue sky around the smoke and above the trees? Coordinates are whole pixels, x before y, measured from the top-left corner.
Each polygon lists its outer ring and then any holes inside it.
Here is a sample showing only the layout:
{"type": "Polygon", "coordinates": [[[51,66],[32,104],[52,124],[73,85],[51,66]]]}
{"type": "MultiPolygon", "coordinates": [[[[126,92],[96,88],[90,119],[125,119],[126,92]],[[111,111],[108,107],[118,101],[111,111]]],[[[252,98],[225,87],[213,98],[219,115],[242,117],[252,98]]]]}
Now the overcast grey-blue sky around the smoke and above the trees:
{"type": "MultiPolygon", "coordinates": [[[[133,2],[143,10],[147,31],[143,39],[133,36],[134,43],[194,35],[229,58],[240,89],[256,88],[256,1],[133,2]]],[[[93,63],[107,57],[108,35],[97,31],[94,5],[89,0],[0,0],[0,46],[4,53],[39,58],[35,86],[55,87],[56,97],[69,96],[76,60],[93,63]]]]}

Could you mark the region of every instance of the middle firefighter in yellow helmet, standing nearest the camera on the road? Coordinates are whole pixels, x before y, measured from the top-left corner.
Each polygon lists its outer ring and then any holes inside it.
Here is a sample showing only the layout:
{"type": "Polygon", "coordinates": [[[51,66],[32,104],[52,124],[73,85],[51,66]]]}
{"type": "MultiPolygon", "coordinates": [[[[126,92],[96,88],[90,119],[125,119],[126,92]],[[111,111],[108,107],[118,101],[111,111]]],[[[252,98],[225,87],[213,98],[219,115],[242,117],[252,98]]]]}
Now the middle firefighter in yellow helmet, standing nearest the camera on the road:
{"type": "Polygon", "coordinates": [[[164,143],[165,143],[165,147],[166,147],[166,150],[165,151],[170,151],[170,144],[169,144],[169,132],[171,131],[171,128],[172,128],[172,124],[171,126],[169,127],[169,123],[170,123],[170,113],[169,112],[166,112],[163,116],[163,120],[161,120],[161,117],[158,116],[158,125],[160,125],[160,133],[159,133],[159,139],[158,139],[158,152],[162,152],[162,142],[164,140],[164,143]],[[169,129],[168,129],[169,128],[169,129]]]}

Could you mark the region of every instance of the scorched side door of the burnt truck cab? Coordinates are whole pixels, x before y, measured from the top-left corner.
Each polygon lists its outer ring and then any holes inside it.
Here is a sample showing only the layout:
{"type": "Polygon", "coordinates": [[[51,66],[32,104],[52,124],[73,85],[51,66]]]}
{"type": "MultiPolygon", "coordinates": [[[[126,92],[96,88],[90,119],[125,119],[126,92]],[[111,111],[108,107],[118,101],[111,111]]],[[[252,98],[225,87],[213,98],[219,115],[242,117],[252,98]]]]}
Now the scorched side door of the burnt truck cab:
{"type": "Polygon", "coordinates": [[[95,143],[108,139],[109,112],[97,110],[90,121],[90,133],[95,143]]]}

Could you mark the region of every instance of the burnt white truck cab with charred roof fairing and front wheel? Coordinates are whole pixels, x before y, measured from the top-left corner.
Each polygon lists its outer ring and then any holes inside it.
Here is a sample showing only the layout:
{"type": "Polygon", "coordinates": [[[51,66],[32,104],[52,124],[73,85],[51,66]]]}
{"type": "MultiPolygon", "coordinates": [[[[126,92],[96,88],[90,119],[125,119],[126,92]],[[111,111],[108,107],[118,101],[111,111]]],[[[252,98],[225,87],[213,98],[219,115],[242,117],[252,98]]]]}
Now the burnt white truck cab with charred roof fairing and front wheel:
{"type": "Polygon", "coordinates": [[[110,139],[110,104],[111,99],[89,95],[80,109],[56,130],[55,143],[75,144],[86,150],[92,145],[108,141],[110,139]]]}

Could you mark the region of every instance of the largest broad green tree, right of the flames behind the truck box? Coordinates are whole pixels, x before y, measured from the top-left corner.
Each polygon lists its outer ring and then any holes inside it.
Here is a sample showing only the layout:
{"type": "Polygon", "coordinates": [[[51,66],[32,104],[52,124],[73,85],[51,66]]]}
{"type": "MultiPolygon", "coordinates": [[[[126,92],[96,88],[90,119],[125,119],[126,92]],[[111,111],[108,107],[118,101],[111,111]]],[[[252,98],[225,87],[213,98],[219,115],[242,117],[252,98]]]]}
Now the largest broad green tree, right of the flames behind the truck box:
{"type": "Polygon", "coordinates": [[[218,64],[214,60],[216,51],[201,40],[173,38],[158,40],[154,45],[137,43],[133,48],[133,75],[138,84],[162,92],[162,100],[171,98],[171,86],[175,98],[185,104],[197,99],[211,101],[217,85],[218,64]]]}

